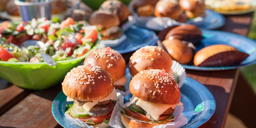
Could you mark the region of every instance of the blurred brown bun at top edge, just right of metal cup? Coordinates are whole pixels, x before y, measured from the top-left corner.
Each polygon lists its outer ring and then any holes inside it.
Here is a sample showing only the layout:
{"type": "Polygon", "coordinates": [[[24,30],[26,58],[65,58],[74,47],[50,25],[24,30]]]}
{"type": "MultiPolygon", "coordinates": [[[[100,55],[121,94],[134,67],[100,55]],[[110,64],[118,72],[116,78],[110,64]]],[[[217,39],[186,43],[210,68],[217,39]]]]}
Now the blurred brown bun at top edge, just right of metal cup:
{"type": "Polygon", "coordinates": [[[52,0],[52,14],[63,13],[66,11],[66,4],[62,0],[52,0]]]}

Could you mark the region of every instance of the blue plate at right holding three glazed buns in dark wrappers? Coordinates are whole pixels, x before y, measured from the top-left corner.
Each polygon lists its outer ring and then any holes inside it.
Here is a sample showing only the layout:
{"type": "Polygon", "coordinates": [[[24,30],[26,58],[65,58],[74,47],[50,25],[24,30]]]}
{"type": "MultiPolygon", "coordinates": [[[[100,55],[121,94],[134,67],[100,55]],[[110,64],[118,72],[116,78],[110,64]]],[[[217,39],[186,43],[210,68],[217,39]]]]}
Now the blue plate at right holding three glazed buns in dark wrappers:
{"type": "Polygon", "coordinates": [[[221,31],[202,30],[202,33],[204,39],[201,40],[201,43],[195,45],[197,51],[213,44],[226,44],[238,49],[240,52],[248,53],[249,57],[241,62],[240,65],[219,67],[199,67],[192,65],[182,65],[185,69],[208,71],[229,70],[253,65],[256,63],[256,42],[254,40],[243,37],[241,35],[221,31]]]}

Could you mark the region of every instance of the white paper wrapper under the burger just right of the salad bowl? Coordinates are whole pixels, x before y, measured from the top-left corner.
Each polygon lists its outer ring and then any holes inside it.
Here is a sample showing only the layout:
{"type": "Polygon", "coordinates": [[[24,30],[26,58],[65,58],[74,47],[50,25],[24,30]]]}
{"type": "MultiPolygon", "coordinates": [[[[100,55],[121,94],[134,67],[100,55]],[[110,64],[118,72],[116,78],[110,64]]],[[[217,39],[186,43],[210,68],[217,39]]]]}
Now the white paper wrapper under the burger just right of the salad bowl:
{"type": "Polygon", "coordinates": [[[117,47],[120,45],[127,36],[125,34],[122,34],[120,38],[115,39],[115,40],[101,40],[98,48],[105,48],[105,47],[117,47]]]}

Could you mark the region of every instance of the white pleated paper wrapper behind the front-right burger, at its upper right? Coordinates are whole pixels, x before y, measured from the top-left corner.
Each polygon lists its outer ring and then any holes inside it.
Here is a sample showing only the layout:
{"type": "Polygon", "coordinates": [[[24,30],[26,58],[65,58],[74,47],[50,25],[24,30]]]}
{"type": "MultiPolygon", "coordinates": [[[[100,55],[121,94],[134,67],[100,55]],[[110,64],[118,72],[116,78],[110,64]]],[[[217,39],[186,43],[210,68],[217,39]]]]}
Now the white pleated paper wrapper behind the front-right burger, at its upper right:
{"type": "Polygon", "coordinates": [[[172,62],[173,62],[173,65],[171,66],[171,69],[173,70],[173,73],[177,72],[179,76],[178,86],[179,88],[181,88],[181,86],[183,85],[183,81],[187,76],[186,71],[183,68],[183,66],[181,66],[180,63],[176,62],[175,60],[173,60],[172,62]]]}

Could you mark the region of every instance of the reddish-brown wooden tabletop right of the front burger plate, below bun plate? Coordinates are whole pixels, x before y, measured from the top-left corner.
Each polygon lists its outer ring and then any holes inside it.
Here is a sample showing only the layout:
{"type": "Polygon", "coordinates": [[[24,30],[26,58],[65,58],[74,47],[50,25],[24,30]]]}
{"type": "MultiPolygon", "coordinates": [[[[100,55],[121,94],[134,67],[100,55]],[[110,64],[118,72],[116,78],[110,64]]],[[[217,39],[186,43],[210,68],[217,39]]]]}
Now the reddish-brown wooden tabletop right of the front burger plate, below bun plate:
{"type": "Polygon", "coordinates": [[[209,121],[200,128],[221,128],[226,123],[229,107],[239,74],[238,69],[225,71],[192,71],[186,70],[187,75],[205,85],[213,94],[216,109],[209,121]],[[220,121],[221,120],[221,121],[220,121]]]}

